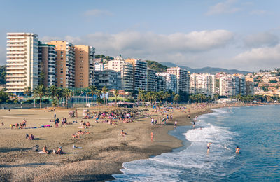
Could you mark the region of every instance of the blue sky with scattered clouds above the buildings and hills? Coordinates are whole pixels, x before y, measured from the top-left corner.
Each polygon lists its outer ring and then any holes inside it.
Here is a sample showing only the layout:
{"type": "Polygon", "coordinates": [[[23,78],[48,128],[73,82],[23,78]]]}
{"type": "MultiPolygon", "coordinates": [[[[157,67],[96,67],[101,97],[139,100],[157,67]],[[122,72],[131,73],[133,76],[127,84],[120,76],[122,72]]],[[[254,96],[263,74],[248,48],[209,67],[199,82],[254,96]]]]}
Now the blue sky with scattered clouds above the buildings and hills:
{"type": "Polygon", "coordinates": [[[279,7],[279,0],[1,0],[0,64],[6,33],[29,32],[43,42],[92,45],[97,55],[190,68],[279,68],[279,7]]]}

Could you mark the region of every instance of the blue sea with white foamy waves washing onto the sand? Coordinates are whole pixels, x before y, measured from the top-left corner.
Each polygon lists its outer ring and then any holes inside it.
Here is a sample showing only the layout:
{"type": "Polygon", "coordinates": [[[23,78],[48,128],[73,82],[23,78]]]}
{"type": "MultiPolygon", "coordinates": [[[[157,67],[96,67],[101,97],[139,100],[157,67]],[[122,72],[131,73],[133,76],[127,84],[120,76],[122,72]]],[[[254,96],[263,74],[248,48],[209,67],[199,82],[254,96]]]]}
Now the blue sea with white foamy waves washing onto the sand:
{"type": "Polygon", "coordinates": [[[280,106],[215,109],[169,134],[184,146],[124,163],[116,181],[280,181],[280,106]]]}

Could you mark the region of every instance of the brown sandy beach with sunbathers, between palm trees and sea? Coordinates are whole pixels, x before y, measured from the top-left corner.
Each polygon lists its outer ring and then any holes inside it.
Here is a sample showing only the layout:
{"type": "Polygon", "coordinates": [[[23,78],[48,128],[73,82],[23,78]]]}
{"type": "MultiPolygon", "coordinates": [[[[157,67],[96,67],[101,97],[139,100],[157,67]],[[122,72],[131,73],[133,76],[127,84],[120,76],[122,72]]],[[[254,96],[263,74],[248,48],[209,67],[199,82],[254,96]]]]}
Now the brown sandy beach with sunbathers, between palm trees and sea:
{"type": "MultiPolygon", "coordinates": [[[[137,116],[133,123],[117,122],[117,125],[95,123],[94,119],[82,119],[83,109],[78,109],[78,118],[69,118],[69,110],[63,109],[48,112],[39,109],[16,109],[0,111],[0,181],[109,181],[112,174],[119,174],[123,162],[149,158],[172,151],[182,146],[181,141],[170,136],[169,130],[174,129],[175,120],[178,125],[191,125],[191,120],[202,113],[211,112],[211,108],[228,106],[195,106],[187,109],[174,109],[173,120],[167,125],[151,125],[151,117],[162,118],[155,109],[148,109],[137,116]],[[188,118],[190,109],[190,118],[188,118]],[[78,123],[55,127],[50,122],[56,113],[60,120],[66,118],[69,123],[78,123]],[[27,120],[27,129],[10,129],[10,124],[22,123],[27,120]],[[80,129],[80,120],[89,121],[91,126],[80,129]],[[52,125],[47,128],[41,125],[52,125]],[[82,130],[90,132],[80,138],[71,135],[82,130]],[[127,135],[123,137],[120,132],[127,135]],[[154,139],[151,141],[151,132],[154,139]],[[26,134],[34,134],[35,140],[25,139],[26,134]],[[73,148],[73,144],[81,149],[73,148]],[[48,150],[57,150],[62,146],[65,154],[45,154],[31,151],[38,145],[41,151],[46,145],[48,150]]],[[[236,105],[235,105],[236,106],[236,105]]],[[[91,111],[92,109],[90,109],[91,111]]]]}

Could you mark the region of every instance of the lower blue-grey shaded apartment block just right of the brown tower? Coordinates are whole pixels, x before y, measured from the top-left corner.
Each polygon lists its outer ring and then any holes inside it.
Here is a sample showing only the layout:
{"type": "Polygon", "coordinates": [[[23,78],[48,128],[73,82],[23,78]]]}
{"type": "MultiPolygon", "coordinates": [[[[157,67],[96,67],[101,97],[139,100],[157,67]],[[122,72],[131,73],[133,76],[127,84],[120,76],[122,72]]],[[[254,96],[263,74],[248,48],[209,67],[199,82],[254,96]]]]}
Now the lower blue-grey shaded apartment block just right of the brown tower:
{"type": "Polygon", "coordinates": [[[105,86],[108,90],[120,90],[120,72],[110,69],[103,71],[94,71],[94,85],[98,90],[105,86]]]}

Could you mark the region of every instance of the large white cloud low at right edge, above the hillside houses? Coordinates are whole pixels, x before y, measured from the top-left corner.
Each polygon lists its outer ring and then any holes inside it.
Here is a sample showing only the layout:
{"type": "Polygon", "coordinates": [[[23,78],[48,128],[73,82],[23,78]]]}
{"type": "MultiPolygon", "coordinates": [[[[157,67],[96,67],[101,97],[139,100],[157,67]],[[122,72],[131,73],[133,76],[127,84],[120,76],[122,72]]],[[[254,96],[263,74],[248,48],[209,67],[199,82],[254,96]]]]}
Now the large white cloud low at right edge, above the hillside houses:
{"type": "Polygon", "coordinates": [[[280,44],[274,47],[253,48],[242,52],[233,58],[235,64],[242,64],[251,69],[273,69],[279,67],[280,61],[280,44]]]}

